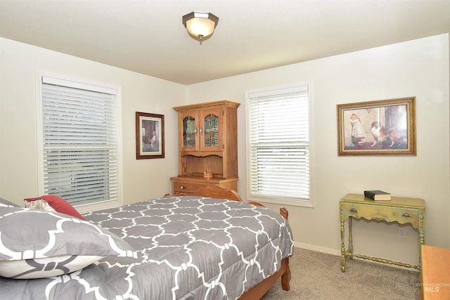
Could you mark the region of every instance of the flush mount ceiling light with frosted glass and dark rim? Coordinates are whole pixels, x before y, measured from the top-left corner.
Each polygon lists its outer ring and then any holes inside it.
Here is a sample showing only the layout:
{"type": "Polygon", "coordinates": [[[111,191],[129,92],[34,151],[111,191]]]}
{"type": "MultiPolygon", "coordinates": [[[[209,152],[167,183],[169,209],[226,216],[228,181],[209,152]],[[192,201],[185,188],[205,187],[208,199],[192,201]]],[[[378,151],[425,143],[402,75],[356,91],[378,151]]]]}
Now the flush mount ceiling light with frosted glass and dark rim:
{"type": "Polygon", "coordinates": [[[212,13],[198,13],[193,11],[183,16],[183,25],[193,39],[202,41],[209,39],[219,22],[219,18],[212,13]]]}

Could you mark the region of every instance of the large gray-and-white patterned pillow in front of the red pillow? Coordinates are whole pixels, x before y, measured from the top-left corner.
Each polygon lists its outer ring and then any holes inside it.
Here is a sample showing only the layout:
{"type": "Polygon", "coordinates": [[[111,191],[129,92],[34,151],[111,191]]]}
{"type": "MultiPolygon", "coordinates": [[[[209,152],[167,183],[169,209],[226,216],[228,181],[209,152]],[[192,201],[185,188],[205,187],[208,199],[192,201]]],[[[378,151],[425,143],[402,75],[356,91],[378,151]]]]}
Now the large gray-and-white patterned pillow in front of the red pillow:
{"type": "Polygon", "coordinates": [[[105,256],[136,257],[136,253],[94,223],[53,211],[0,206],[0,276],[63,275],[105,256]]]}

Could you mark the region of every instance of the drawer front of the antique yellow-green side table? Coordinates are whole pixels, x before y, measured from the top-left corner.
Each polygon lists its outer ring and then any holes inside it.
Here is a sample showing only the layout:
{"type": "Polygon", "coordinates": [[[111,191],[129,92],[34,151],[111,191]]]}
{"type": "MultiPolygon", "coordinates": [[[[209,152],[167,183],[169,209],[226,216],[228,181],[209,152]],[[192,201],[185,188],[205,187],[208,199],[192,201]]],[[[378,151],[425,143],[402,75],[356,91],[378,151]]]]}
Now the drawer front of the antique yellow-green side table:
{"type": "Polygon", "coordinates": [[[411,223],[415,228],[418,228],[418,209],[356,203],[342,203],[341,207],[347,216],[352,216],[356,219],[397,221],[401,224],[411,223]]]}

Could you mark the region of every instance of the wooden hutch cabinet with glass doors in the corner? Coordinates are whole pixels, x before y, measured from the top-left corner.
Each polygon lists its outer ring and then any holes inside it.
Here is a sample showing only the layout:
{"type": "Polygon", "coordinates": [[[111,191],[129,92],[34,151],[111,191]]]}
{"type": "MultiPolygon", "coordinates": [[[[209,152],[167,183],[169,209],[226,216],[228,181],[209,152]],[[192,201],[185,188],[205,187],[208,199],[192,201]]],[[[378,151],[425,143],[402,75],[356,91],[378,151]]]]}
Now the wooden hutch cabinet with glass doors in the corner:
{"type": "Polygon", "coordinates": [[[170,178],[174,195],[193,195],[206,185],[237,190],[239,105],[221,100],[174,107],[179,130],[179,173],[170,178]],[[207,169],[212,177],[204,177],[207,169]]]}

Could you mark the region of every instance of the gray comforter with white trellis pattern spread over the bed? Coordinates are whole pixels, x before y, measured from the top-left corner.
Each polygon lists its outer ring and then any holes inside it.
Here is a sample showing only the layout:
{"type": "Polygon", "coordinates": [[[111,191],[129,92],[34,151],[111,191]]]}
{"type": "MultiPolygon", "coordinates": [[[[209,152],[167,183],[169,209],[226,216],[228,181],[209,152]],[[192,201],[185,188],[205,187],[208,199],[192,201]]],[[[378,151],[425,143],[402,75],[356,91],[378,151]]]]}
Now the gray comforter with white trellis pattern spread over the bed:
{"type": "Polygon", "coordinates": [[[129,242],[137,259],[110,256],[68,275],[6,280],[15,294],[0,287],[1,298],[237,299],[294,249],[280,214],[236,201],[162,197],[84,217],[129,242]]]}

